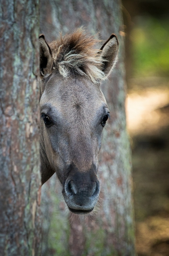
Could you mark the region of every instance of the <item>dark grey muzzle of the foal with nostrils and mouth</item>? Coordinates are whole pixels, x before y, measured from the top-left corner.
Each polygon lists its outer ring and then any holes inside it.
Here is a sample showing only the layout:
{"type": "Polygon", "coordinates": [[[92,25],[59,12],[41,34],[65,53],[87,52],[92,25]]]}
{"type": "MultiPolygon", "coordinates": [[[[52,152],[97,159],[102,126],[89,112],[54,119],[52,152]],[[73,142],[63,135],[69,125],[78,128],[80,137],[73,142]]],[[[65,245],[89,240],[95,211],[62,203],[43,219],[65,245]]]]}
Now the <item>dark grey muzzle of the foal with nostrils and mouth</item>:
{"type": "Polygon", "coordinates": [[[95,169],[88,172],[75,169],[70,171],[62,194],[71,212],[86,214],[92,212],[99,199],[100,183],[95,169]]]}

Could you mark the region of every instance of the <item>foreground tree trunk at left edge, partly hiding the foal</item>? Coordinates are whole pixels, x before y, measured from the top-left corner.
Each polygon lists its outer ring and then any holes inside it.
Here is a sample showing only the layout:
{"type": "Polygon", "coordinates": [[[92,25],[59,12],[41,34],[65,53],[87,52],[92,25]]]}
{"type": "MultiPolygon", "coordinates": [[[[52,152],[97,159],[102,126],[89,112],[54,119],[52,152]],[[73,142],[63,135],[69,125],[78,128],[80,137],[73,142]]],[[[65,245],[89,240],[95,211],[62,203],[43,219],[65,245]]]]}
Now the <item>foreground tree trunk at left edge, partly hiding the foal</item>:
{"type": "Polygon", "coordinates": [[[1,0],[0,9],[0,255],[37,256],[39,0],[1,0]]]}

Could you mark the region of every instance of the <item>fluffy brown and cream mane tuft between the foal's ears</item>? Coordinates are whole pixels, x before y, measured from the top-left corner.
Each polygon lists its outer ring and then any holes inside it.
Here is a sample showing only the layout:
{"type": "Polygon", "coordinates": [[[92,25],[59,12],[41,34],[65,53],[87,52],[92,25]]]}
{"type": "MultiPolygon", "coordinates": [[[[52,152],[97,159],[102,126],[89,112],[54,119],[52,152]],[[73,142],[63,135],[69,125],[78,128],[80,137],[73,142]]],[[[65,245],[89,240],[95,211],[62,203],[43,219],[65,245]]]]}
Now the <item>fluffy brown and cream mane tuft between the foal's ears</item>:
{"type": "Polygon", "coordinates": [[[105,78],[102,72],[103,61],[95,45],[99,40],[94,39],[78,28],[72,34],[60,36],[60,39],[49,44],[54,58],[53,68],[57,69],[63,77],[72,74],[87,76],[93,83],[105,78]]]}

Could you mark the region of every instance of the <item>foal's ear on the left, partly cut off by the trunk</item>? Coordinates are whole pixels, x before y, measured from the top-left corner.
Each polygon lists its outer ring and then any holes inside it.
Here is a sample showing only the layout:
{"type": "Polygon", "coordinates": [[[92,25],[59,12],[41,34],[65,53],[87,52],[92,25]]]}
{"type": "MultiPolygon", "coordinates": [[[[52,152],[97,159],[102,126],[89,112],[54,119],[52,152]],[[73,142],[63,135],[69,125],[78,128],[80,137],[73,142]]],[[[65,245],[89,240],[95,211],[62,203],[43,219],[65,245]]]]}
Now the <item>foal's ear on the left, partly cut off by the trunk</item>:
{"type": "Polygon", "coordinates": [[[39,36],[40,44],[40,75],[45,76],[51,72],[53,57],[44,35],[39,36]]]}

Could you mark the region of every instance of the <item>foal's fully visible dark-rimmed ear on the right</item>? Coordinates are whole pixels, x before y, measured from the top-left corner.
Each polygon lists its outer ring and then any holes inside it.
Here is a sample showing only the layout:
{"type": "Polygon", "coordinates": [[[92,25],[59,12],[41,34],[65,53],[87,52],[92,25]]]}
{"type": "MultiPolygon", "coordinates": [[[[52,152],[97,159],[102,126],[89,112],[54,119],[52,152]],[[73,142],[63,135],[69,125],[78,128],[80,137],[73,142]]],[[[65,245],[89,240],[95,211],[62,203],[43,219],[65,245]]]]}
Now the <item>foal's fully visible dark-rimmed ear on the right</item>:
{"type": "Polygon", "coordinates": [[[102,71],[108,76],[118,59],[119,42],[117,36],[112,34],[100,48],[100,51],[101,58],[105,60],[102,71]]]}

